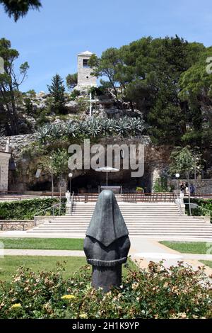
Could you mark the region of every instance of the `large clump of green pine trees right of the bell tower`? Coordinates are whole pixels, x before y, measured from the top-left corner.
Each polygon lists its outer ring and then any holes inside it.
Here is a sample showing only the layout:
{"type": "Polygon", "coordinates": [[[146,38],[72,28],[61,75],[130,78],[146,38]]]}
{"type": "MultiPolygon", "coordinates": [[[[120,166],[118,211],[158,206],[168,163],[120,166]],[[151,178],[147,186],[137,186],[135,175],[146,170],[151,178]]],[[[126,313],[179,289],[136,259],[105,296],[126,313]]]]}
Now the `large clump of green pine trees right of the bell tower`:
{"type": "Polygon", "coordinates": [[[206,73],[206,58],[210,55],[210,47],[177,35],[147,37],[119,49],[111,47],[101,57],[92,55],[89,64],[93,75],[107,77],[117,101],[143,113],[153,142],[209,147],[212,75],[206,73]]]}

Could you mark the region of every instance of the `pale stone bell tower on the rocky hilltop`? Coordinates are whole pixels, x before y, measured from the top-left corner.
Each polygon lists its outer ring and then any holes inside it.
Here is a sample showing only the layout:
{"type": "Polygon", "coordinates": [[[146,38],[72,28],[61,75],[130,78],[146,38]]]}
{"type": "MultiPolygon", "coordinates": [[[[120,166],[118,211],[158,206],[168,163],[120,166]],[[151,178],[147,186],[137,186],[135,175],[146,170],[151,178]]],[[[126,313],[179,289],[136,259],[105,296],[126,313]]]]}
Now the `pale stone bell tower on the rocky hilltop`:
{"type": "MultiPolygon", "coordinates": [[[[90,51],[85,51],[78,54],[78,82],[77,87],[82,86],[97,86],[97,78],[92,77],[90,73],[92,69],[88,65],[88,60],[91,55],[93,55],[90,51]]],[[[77,89],[76,87],[76,89],[77,89]]]]}

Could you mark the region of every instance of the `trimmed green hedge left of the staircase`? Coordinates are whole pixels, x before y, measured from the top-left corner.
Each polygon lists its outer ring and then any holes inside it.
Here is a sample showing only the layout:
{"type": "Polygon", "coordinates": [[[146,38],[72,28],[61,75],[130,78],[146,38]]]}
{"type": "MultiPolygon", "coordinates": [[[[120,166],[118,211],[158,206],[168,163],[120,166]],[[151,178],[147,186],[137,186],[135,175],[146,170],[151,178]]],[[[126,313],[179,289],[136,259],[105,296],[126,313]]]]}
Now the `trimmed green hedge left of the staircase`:
{"type": "MultiPolygon", "coordinates": [[[[30,199],[0,203],[1,220],[30,220],[40,210],[59,203],[57,198],[30,199]]],[[[56,209],[57,212],[57,209],[56,209]]],[[[45,215],[45,213],[41,213],[45,215]]]]}

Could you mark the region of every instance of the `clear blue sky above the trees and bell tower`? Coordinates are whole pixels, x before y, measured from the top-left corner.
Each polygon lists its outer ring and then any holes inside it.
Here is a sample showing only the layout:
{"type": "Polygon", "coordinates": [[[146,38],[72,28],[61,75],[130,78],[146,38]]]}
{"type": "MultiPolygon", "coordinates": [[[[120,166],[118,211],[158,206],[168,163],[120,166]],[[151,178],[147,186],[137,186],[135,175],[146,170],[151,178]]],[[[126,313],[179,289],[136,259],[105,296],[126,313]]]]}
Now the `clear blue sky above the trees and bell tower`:
{"type": "Polygon", "coordinates": [[[0,5],[0,38],[28,61],[23,91],[47,91],[52,76],[77,71],[76,55],[98,55],[143,36],[173,36],[211,46],[211,0],[41,0],[40,11],[14,23],[0,5]]]}

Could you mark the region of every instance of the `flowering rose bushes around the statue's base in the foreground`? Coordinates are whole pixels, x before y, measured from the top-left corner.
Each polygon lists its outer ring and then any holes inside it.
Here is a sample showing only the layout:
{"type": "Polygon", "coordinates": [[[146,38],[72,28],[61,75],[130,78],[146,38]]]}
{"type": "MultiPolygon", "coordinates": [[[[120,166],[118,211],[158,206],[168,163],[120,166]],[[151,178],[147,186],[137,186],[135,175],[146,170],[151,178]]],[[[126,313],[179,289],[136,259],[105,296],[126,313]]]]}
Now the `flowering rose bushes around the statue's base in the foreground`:
{"type": "Polygon", "coordinates": [[[20,268],[2,283],[1,319],[197,319],[211,318],[211,281],[204,269],[151,262],[147,270],[128,269],[121,288],[103,294],[90,286],[90,266],[69,280],[63,266],[35,273],[20,268]],[[15,305],[16,304],[16,305],[15,305]]]}

